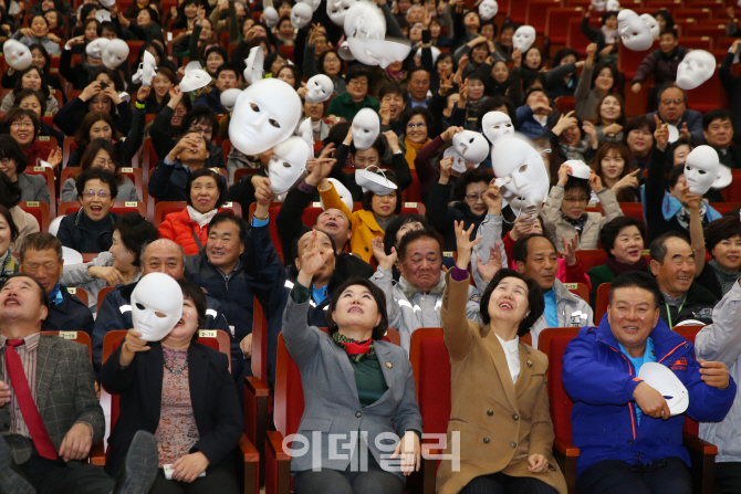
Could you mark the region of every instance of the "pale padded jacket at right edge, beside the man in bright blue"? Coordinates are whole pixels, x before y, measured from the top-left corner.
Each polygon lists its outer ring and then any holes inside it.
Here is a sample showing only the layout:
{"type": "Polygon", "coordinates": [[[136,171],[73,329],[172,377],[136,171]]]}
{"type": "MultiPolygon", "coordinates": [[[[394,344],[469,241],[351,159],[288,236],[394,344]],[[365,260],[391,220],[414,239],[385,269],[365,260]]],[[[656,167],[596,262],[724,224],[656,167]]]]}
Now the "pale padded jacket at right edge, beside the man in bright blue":
{"type": "MultiPolygon", "coordinates": [[[[722,361],[734,381],[741,379],[741,286],[738,283],[712,311],[712,324],[695,338],[697,358],[722,361]]],[[[720,422],[701,422],[700,438],[718,446],[717,462],[741,461],[741,400],[733,401],[731,411],[720,422]]]]}

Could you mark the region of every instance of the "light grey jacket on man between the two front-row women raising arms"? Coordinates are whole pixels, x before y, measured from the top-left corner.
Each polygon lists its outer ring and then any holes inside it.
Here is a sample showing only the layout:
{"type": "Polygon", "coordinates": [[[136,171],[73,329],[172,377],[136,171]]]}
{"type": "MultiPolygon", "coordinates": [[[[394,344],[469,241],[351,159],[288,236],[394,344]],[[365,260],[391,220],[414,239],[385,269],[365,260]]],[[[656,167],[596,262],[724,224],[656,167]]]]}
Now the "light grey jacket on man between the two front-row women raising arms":
{"type": "MultiPolygon", "coordinates": [[[[393,283],[390,270],[378,266],[370,278],[376,286],[386,295],[386,309],[388,311],[388,327],[396,328],[401,337],[401,348],[409,355],[411,334],[420,327],[438,327],[440,320],[440,307],[442,307],[442,293],[445,292],[445,273],[440,272],[438,284],[428,293],[421,293],[407,282],[404,276],[398,283],[393,283]]],[[[481,322],[479,302],[481,295],[473,286],[468,287],[468,302],[466,303],[466,317],[481,322]]]]}

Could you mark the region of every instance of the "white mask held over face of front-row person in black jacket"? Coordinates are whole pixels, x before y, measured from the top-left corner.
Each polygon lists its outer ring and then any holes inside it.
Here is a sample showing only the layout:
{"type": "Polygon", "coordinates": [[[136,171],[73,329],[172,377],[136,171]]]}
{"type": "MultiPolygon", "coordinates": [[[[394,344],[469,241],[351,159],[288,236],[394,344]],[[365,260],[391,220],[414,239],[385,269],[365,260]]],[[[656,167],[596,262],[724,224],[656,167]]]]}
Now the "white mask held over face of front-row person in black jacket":
{"type": "Polygon", "coordinates": [[[149,273],[132,292],[132,322],[145,341],[159,341],[182,317],[182,290],[165,273],[149,273]],[[164,317],[157,315],[164,314],[164,317]]]}

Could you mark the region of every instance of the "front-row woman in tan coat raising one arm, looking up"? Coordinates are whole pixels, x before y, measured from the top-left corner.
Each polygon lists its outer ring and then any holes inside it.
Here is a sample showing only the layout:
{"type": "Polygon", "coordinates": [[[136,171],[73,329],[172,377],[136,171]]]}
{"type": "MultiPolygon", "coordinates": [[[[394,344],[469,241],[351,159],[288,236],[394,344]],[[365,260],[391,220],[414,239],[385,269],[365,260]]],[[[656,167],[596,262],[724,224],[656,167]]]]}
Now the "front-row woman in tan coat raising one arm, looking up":
{"type": "Polygon", "coordinates": [[[484,326],[466,318],[471,249],[456,224],[458,260],[447,274],[442,330],[450,354],[451,416],[445,453],[459,432],[460,470],[443,460],[438,494],[566,494],[551,448],[554,433],[545,371],[547,358],[519,341],[543,313],[538,283],[500,269],[481,297],[484,326]]]}

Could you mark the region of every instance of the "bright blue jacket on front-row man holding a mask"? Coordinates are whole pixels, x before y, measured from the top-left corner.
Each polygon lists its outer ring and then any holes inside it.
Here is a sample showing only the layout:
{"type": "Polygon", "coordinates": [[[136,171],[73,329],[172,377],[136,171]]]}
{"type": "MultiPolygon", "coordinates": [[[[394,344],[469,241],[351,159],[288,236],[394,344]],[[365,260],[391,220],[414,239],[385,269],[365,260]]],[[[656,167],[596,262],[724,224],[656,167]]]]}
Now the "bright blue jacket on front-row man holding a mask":
{"type": "MultiPolygon", "coordinates": [[[[705,383],[695,359],[695,347],[661,320],[650,334],[656,361],[671,369],[689,392],[687,416],[718,422],[731,409],[735,381],[727,389],[705,383]]],[[[682,445],[682,414],[668,420],[636,416],[633,392],[640,382],[637,371],[620,351],[607,315],[598,327],[583,327],[563,356],[563,386],[574,400],[572,442],[581,450],[577,475],[603,460],[648,464],[678,456],[689,465],[682,445]]]]}

